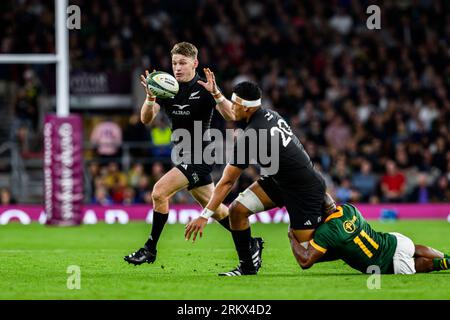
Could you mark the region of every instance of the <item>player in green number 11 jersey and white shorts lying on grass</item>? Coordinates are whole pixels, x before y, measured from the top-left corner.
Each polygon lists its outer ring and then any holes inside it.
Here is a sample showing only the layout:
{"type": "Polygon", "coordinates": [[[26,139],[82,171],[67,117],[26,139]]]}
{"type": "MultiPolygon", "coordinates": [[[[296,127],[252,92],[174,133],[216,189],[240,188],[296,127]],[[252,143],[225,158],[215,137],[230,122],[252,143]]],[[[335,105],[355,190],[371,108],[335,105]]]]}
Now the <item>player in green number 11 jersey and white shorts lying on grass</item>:
{"type": "Polygon", "coordinates": [[[336,207],[327,198],[323,223],[308,244],[300,244],[292,230],[288,236],[292,252],[302,269],[312,267],[329,252],[363,273],[378,266],[382,274],[414,274],[448,270],[450,256],[416,244],[400,233],[376,232],[351,204],[336,207]]]}

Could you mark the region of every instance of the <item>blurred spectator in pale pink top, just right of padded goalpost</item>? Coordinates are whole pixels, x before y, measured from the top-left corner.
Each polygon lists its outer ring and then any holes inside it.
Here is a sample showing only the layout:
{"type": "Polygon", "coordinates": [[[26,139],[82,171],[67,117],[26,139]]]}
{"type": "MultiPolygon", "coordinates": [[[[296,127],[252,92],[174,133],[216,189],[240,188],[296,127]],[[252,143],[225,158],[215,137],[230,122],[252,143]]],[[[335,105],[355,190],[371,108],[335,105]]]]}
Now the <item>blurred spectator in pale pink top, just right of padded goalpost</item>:
{"type": "Polygon", "coordinates": [[[90,142],[95,146],[100,161],[102,163],[109,162],[119,156],[120,145],[122,144],[122,129],[111,120],[102,121],[94,127],[90,142]]]}

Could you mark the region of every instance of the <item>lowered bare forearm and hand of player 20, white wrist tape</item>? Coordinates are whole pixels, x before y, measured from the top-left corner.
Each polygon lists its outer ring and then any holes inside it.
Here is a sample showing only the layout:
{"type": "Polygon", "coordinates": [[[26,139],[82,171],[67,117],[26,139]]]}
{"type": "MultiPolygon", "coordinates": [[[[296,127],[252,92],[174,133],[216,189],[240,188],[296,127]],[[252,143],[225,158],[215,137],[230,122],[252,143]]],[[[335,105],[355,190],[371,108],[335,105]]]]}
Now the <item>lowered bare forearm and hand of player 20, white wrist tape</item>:
{"type": "Polygon", "coordinates": [[[220,178],[220,181],[214,188],[213,195],[211,196],[211,199],[206,207],[203,209],[200,217],[192,220],[186,225],[184,231],[184,237],[186,240],[189,240],[193,235],[194,237],[192,241],[195,242],[198,233],[200,233],[200,238],[203,236],[203,229],[208,223],[208,219],[214,214],[222,201],[225,200],[227,195],[230,193],[234,183],[237,179],[239,179],[242,171],[243,170],[241,168],[229,164],[225,167],[222,178],[220,178]]]}

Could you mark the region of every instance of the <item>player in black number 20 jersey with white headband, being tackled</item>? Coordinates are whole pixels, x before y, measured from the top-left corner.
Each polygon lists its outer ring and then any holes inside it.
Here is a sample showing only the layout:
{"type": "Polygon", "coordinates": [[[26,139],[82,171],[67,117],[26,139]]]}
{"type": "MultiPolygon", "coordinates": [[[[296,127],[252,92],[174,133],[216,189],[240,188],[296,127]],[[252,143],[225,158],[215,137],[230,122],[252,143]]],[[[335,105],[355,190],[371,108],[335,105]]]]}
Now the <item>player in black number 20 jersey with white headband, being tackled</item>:
{"type": "Polygon", "coordinates": [[[256,84],[248,81],[237,84],[231,101],[235,120],[245,121],[247,127],[235,143],[233,160],[225,167],[211,200],[201,216],[186,226],[185,237],[190,239],[193,235],[195,240],[198,233],[202,234],[208,218],[222,206],[233,184],[248,167],[249,148],[265,147],[271,150],[271,145],[275,145],[271,160],[278,163],[278,170],[264,175],[267,165],[262,163],[259,158],[261,150],[258,150],[258,159],[254,160],[261,165],[262,177],[243,191],[229,207],[231,233],[240,264],[236,269],[220,275],[240,276],[256,274],[261,266],[261,250],[252,250],[248,217],[260,211],[285,206],[296,239],[301,243],[307,242],[321,221],[326,186],[287,122],[277,112],[261,106],[261,90],[256,84]],[[248,143],[245,133],[252,130],[256,131],[258,141],[248,143]],[[261,145],[261,141],[266,144],[261,145]],[[244,143],[246,149],[247,156],[240,157],[244,161],[238,161],[240,142],[244,143]]]}

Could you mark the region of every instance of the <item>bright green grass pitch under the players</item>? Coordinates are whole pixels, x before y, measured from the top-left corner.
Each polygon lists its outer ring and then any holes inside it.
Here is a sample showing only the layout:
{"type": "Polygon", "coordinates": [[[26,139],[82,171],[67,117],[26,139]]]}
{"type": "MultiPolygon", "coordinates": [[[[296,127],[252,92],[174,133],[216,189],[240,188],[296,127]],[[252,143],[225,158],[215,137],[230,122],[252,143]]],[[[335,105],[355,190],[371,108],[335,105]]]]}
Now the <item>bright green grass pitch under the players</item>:
{"type": "MultiPolygon", "coordinates": [[[[450,252],[445,221],[373,222],[415,243],[450,252]]],[[[38,224],[0,226],[0,299],[450,299],[450,272],[383,275],[381,289],[367,288],[368,275],[343,262],[301,270],[285,224],[255,224],[266,241],[257,276],[218,277],[236,266],[231,236],[209,225],[195,244],[183,225],[167,225],[155,264],[134,267],[122,257],[145,241],[150,226],[84,225],[55,228],[38,224]],[[67,267],[81,268],[81,289],[67,289],[67,267]]]]}

